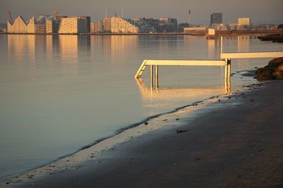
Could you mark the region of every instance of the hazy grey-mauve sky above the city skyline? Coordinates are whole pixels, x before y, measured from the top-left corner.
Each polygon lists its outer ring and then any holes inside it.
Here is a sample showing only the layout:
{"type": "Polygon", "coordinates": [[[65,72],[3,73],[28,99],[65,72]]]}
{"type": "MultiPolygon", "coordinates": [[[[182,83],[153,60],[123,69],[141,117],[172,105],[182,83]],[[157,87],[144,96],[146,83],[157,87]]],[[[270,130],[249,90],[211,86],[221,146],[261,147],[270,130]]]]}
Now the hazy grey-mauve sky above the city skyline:
{"type": "Polygon", "coordinates": [[[238,17],[250,17],[253,23],[283,23],[283,0],[0,0],[0,23],[6,23],[7,13],[13,18],[23,15],[27,20],[32,15],[62,11],[62,15],[90,15],[91,21],[108,16],[126,18],[177,18],[178,23],[187,22],[191,9],[191,23],[207,24],[210,14],[223,13],[224,23],[236,23],[238,17]]]}

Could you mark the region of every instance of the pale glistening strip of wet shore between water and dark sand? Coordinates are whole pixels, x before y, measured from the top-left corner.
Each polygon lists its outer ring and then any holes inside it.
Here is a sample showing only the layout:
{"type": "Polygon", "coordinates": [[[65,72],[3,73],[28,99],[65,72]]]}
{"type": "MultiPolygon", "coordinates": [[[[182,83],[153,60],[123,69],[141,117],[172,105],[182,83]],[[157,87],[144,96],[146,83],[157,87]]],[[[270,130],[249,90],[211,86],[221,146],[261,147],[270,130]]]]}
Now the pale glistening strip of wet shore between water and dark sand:
{"type": "MultiPolygon", "coordinates": [[[[245,92],[248,92],[248,90],[250,89],[247,89],[245,92]]],[[[112,149],[115,149],[116,146],[118,147],[120,144],[132,142],[132,139],[137,139],[146,134],[149,134],[152,131],[163,129],[164,127],[168,126],[163,125],[164,120],[161,119],[166,119],[166,117],[170,119],[172,118],[172,116],[175,116],[178,113],[185,113],[185,116],[182,117],[185,118],[188,114],[193,114],[195,111],[203,111],[203,108],[209,104],[217,103],[219,98],[226,98],[226,94],[212,96],[209,97],[209,99],[204,99],[192,104],[187,104],[166,113],[152,115],[149,118],[141,120],[141,122],[139,123],[134,123],[132,125],[129,125],[128,127],[117,130],[115,134],[98,139],[96,142],[93,142],[92,144],[89,144],[87,146],[83,146],[81,149],[79,149],[79,151],[70,153],[67,156],[62,156],[52,163],[48,163],[47,165],[43,165],[40,168],[30,170],[23,173],[22,175],[18,175],[11,179],[0,182],[0,186],[13,184],[15,185],[18,184],[18,182],[21,182],[20,184],[22,184],[30,182],[32,180],[40,179],[42,177],[45,177],[46,175],[53,175],[54,173],[56,174],[62,172],[64,173],[65,170],[69,169],[78,170],[82,163],[88,163],[89,161],[98,160],[101,153],[105,151],[110,151],[112,149]],[[154,125],[154,127],[144,126],[144,123],[149,123],[149,125],[154,125]],[[7,182],[8,184],[6,184],[7,182]]],[[[173,127],[178,127],[180,126],[180,124],[182,124],[182,121],[179,121],[180,117],[177,118],[177,121],[171,120],[171,122],[168,122],[168,119],[166,119],[166,124],[170,123],[171,125],[173,125],[173,127]]],[[[169,127],[171,125],[169,125],[169,127]]]]}

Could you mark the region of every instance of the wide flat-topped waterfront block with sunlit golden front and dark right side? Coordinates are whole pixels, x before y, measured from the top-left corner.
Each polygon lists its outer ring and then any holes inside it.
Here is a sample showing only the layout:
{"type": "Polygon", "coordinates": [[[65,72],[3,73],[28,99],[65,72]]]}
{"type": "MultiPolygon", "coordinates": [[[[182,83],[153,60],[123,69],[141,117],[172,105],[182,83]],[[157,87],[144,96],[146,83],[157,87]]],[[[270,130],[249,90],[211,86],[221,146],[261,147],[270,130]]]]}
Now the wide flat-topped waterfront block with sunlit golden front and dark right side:
{"type": "Polygon", "coordinates": [[[61,18],[58,32],[60,34],[88,33],[91,30],[90,20],[88,16],[61,18]]]}

